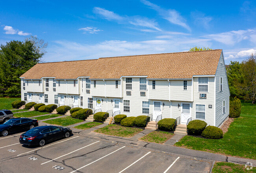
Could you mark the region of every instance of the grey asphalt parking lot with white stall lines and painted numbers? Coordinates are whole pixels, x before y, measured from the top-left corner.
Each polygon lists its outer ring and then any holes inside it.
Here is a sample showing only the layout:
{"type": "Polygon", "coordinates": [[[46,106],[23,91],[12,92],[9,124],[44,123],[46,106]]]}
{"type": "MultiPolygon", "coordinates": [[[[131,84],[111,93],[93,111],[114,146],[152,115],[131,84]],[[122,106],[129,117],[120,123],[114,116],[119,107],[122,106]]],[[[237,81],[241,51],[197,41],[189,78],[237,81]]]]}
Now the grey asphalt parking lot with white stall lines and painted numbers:
{"type": "Polygon", "coordinates": [[[207,161],[76,135],[44,147],[27,147],[19,143],[20,134],[0,137],[2,173],[204,173],[211,168],[207,161]]]}

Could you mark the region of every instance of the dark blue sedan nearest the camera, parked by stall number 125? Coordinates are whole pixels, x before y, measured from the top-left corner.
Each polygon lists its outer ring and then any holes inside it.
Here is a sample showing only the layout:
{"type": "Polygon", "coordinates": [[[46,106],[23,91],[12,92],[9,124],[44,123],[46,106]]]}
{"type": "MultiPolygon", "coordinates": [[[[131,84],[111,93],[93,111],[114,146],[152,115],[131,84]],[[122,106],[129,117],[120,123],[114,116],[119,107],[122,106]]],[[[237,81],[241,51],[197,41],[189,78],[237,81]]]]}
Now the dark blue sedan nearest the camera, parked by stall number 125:
{"type": "Polygon", "coordinates": [[[20,144],[29,146],[39,145],[42,147],[46,142],[59,138],[68,138],[71,134],[72,130],[69,127],[42,125],[20,135],[20,144]]]}

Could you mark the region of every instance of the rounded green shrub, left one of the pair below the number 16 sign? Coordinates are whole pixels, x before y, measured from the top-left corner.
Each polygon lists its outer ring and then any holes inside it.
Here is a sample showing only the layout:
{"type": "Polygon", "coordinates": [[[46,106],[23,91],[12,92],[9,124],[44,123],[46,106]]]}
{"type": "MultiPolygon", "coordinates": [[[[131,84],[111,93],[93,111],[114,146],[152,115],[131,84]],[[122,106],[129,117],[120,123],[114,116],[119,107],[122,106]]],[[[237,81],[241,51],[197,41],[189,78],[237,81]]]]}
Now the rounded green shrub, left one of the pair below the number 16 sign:
{"type": "Polygon", "coordinates": [[[187,125],[187,133],[191,135],[201,135],[207,123],[202,120],[190,121],[187,125]]]}

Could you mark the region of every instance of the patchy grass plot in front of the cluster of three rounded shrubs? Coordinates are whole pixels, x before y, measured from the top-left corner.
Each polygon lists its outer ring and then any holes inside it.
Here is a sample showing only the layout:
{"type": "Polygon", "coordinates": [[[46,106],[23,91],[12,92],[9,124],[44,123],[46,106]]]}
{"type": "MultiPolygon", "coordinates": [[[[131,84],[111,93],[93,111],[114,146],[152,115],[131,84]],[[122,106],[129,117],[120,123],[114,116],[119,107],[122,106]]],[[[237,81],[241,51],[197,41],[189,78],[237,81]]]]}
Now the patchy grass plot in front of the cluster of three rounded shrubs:
{"type": "Polygon", "coordinates": [[[102,127],[100,129],[95,130],[97,133],[108,134],[111,136],[122,136],[126,138],[130,138],[135,134],[140,133],[143,129],[134,128],[134,127],[124,127],[121,125],[107,125],[106,127],[102,127]]]}

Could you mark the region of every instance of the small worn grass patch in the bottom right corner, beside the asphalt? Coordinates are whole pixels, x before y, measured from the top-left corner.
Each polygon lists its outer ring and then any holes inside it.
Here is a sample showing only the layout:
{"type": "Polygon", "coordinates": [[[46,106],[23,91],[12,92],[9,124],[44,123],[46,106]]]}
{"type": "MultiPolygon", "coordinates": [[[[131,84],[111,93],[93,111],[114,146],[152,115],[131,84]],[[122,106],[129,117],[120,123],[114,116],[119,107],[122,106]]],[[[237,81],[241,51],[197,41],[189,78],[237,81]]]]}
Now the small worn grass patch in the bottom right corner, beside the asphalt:
{"type": "MultiPolygon", "coordinates": [[[[247,166],[250,169],[250,167],[247,166]]],[[[247,170],[245,165],[233,164],[228,162],[216,162],[213,166],[212,173],[256,173],[256,168],[247,170]]]]}

